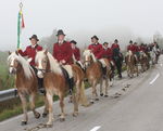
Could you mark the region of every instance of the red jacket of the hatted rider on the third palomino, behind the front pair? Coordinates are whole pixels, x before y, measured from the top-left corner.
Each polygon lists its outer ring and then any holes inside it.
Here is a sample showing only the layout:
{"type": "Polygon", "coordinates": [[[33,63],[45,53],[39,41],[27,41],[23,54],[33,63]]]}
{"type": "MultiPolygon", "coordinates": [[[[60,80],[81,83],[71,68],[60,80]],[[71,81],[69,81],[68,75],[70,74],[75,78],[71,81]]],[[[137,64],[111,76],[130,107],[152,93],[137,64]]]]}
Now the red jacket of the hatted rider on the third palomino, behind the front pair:
{"type": "Polygon", "coordinates": [[[95,54],[95,56],[97,57],[99,55],[99,53],[101,52],[101,50],[102,50],[102,44],[100,44],[100,43],[90,44],[88,47],[88,49],[91,50],[92,53],[95,54]]]}

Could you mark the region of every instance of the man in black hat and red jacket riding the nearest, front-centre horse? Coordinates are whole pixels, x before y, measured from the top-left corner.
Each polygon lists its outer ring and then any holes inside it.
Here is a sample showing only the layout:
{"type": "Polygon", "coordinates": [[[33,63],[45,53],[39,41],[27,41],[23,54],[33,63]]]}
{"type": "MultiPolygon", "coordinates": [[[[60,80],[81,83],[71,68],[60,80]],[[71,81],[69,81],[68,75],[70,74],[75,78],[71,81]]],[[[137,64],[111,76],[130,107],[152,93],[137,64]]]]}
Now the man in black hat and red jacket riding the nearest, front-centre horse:
{"type": "MultiPolygon", "coordinates": [[[[71,42],[65,41],[65,34],[62,29],[58,30],[57,34],[58,42],[53,44],[53,57],[61,64],[61,65],[71,65],[73,64],[73,51],[71,42]]],[[[61,66],[63,75],[67,80],[70,86],[70,93],[72,94],[73,87],[74,87],[74,79],[70,77],[67,71],[61,66]]]]}

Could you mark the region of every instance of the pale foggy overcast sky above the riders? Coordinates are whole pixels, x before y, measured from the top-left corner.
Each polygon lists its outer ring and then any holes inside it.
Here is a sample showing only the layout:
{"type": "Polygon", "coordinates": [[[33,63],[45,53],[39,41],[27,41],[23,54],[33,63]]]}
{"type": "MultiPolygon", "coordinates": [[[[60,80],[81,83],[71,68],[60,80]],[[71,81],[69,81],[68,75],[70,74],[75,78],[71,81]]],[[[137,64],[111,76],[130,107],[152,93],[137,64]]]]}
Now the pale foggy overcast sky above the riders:
{"type": "MultiPolygon", "coordinates": [[[[15,50],[20,0],[0,1],[0,50],[15,50]]],[[[130,34],[128,39],[135,36],[150,38],[155,31],[163,34],[162,0],[22,1],[26,25],[21,38],[23,47],[29,44],[28,38],[33,34],[41,38],[50,36],[54,28],[64,29],[72,39],[87,39],[87,42],[95,34],[103,41],[123,39],[126,30],[130,34]]]]}

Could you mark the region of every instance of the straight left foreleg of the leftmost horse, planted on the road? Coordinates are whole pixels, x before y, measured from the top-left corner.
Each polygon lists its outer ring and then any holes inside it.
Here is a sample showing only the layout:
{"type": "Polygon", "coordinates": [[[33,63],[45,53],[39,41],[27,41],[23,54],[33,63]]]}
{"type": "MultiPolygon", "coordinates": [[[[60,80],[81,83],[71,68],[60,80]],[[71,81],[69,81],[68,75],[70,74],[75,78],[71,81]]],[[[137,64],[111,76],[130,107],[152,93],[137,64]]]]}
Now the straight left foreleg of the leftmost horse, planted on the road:
{"type": "Polygon", "coordinates": [[[21,102],[22,102],[22,107],[23,107],[23,113],[24,113],[24,119],[22,120],[22,126],[27,125],[28,121],[28,116],[27,116],[27,101],[26,97],[23,93],[18,93],[21,102]]]}

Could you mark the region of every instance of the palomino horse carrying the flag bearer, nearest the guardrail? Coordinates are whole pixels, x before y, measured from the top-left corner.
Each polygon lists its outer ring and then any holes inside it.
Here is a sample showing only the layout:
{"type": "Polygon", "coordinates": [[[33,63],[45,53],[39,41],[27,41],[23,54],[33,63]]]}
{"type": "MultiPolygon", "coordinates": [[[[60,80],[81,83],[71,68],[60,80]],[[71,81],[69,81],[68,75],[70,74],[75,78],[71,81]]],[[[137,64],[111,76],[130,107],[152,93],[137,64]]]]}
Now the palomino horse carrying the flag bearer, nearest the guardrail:
{"type": "Polygon", "coordinates": [[[28,121],[27,116],[27,101],[26,96],[29,95],[30,108],[34,113],[35,118],[39,118],[40,114],[35,110],[35,97],[37,93],[37,78],[29,63],[22,57],[17,52],[10,53],[8,57],[9,62],[9,73],[12,75],[16,75],[16,88],[22,101],[24,119],[22,120],[22,125],[26,125],[28,121]]]}

